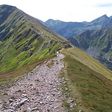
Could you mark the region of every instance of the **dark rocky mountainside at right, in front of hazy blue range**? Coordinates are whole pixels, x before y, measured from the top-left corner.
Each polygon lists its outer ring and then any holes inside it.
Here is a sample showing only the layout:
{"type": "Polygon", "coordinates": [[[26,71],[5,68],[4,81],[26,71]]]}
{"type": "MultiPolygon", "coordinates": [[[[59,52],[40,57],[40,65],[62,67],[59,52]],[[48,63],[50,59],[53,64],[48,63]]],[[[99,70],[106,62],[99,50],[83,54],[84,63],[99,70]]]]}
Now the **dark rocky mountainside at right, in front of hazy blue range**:
{"type": "Polygon", "coordinates": [[[112,69],[112,27],[85,31],[76,40],[78,47],[112,69]]]}

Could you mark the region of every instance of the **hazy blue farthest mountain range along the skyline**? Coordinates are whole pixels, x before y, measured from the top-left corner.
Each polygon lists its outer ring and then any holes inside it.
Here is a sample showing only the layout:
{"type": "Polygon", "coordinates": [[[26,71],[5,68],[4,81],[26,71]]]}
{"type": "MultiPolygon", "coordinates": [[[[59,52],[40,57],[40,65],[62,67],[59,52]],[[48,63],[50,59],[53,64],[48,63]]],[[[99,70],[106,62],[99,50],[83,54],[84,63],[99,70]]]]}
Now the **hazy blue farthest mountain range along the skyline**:
{"type": "Polygon", "coordinates": [[[91,22],[63,22],[60,20],[49,19],[45,22],[45,25],[66,38],[72,38],[86,30],[110,27],[111,22],[112,17],[103,15],[91,22]]]}

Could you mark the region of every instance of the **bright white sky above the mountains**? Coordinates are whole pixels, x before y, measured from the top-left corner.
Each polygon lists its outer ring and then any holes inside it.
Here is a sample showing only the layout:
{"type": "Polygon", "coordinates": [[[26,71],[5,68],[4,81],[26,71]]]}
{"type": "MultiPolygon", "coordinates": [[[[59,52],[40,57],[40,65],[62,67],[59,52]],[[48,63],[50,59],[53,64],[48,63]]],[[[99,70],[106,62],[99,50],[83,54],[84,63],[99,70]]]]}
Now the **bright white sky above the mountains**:
{"type": "Polygon", "coordinates": [[[42,21],[91,21],[107,14],[112,16],[112,0],[0,0],[0,4],[18,7],[42,21]]]}

